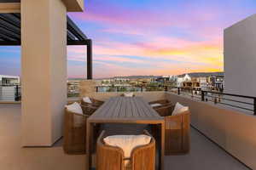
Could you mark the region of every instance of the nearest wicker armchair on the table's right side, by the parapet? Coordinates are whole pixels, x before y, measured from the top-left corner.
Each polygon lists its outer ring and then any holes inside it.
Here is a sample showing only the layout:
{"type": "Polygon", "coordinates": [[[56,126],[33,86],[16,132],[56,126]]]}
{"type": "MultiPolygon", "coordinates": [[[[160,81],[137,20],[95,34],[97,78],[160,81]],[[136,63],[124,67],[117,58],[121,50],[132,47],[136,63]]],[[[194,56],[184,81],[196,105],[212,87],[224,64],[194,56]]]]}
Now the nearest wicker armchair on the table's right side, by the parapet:
{"type": "Polygon", "coordinates": [[[190,150],[190,112],[170,116],[172,110],[171,105],[155,109],[160,116],[165,116],[166,155],[186,154],[190,150]]]}

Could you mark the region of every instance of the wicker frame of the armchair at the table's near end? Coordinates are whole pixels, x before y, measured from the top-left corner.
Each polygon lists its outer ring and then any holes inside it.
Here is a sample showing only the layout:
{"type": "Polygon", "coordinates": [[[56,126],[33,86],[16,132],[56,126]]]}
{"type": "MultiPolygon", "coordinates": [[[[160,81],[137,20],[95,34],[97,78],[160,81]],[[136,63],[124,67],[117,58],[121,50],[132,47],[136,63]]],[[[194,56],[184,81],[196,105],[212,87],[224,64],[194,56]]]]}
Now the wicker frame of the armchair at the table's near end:
{"type": "MultiPolygon", "coordinates": [[[[151,136],[147,131],[145,134],[151,136]]],[[[105,131],[97,140],[96,169],[97,170],[154,170],[155,169],[155,140],[152,137],[149,144],[137,146],[131,152],[131,158],[124,157],[124,151],[119,147],[104,144],[105,131]],[[125,160],[131,160],[131,167],[125,167],[125,160]]]]}

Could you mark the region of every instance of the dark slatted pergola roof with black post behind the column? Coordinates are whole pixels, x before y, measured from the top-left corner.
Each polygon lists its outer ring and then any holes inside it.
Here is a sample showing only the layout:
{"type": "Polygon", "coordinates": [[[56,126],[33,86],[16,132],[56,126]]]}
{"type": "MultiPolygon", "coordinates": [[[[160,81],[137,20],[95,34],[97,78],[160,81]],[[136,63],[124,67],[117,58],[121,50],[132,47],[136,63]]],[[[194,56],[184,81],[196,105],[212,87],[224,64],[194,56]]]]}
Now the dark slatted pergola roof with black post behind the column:
{"type": "MultiPolygon", "coordinates": [[[[20,14],[0,14],[0,46],[21,45],[20,14]]],[[[67,16],[67,45],[86,45],[87,79],[92,79],[92,42],[67,16]]]]}

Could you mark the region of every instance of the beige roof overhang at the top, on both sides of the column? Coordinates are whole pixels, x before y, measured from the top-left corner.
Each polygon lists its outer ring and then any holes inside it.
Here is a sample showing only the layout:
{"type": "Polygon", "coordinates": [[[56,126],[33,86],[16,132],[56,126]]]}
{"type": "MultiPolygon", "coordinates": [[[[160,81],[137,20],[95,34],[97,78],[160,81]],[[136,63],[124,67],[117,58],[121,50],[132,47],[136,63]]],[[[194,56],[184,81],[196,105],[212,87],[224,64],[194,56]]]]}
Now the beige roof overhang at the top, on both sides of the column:
{"type": "MultiPolygon", "coordinates": [[[[62,0],[67,7],[67,12],[83,12],[84,0],[62,0]]],[[[1,13],[20,12],[20,0],[0,0],[1,13]]]]}

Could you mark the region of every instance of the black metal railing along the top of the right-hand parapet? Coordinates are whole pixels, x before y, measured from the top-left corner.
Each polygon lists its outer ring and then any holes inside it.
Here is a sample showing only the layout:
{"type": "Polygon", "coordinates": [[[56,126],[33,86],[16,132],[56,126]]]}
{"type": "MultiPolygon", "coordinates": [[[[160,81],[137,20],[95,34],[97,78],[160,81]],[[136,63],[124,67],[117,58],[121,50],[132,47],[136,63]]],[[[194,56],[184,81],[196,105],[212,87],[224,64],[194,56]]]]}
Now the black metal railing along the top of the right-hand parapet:
{"type": "Polygon", "coordinates": [[[256,97],[226,94],[222,92],[207,91],[197,88],[175,88],[178,95],[187,95],[194,99],[199,99],[203,102],[212,102],[219,105],[227,105],[243,111],[253,112],[256,116],[256,97]]]}

